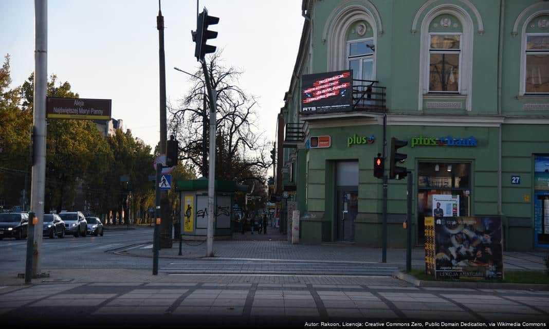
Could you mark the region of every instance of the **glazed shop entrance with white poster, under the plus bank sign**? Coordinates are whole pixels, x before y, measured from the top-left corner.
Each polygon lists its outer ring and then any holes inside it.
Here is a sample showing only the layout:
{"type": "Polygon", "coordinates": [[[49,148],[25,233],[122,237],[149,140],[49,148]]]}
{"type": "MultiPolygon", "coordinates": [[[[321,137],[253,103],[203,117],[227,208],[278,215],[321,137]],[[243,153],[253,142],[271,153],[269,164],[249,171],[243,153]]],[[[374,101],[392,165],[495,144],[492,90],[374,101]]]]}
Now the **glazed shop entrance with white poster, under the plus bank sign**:
{"type": "Polygon", "coordinates": [[[420,162],[417,242],[425,243],[425,217],[469,216],[470,163],[420,162]]]}

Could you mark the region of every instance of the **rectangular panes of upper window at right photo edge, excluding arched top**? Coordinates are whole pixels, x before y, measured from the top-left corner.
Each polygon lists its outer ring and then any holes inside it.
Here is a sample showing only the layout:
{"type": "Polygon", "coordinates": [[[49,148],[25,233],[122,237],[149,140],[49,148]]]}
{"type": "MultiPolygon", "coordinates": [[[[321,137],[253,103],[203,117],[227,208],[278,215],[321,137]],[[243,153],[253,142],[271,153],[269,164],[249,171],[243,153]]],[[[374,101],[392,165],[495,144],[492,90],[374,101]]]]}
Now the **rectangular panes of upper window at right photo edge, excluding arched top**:
{"type": "Polygon", "coordinates": [[[526,34],[526,93],[549,93],[549,34],[526,34]]]}

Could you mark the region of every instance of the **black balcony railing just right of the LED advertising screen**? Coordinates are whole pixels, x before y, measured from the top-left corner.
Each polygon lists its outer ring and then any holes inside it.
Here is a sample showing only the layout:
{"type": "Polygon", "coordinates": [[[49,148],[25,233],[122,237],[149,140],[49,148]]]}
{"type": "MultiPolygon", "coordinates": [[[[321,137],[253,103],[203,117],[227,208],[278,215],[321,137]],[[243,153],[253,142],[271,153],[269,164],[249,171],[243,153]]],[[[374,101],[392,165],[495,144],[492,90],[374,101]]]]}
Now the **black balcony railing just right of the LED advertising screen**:
{"type": "Polygon", "coordinates": [[[352,80],[352,109],[385,112],[385,89],[377,86],[378,81],[352,80]]]}

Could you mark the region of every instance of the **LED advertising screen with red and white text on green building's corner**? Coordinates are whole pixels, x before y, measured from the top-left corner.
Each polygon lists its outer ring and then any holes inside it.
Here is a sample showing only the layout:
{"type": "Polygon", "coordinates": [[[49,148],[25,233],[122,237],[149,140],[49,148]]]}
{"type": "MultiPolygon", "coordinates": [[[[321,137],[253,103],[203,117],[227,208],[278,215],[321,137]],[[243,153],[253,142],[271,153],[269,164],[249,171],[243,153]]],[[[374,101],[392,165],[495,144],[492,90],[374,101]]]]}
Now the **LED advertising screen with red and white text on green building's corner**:
{"type": "Polygon", "coordinates": [[[352,110],[352,71],[301,76],[301,112],[315,114],[352,110]]]}

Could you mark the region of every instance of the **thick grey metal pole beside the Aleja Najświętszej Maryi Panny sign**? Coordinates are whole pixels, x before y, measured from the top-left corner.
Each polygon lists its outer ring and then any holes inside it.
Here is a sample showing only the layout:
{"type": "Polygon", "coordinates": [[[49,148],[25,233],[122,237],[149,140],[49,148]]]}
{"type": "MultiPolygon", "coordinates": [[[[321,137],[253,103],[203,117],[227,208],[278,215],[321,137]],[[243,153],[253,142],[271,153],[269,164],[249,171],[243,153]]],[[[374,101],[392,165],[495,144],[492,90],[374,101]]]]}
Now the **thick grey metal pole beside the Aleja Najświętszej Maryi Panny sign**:
{"type": "MultiPolygon", "coordinates": [[[[48,2],[35,0],[35,80],[34,80],[34,143],[31,176],[31,209],[42,227],[44,219],[44,188],[46,186],[46,91],[48,82],[48,2]]],[[[40,274],[42,230],[35,230],[32,250],[32,274],[40,274]]]]}

